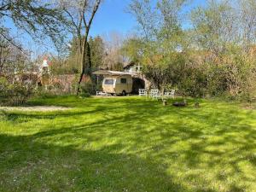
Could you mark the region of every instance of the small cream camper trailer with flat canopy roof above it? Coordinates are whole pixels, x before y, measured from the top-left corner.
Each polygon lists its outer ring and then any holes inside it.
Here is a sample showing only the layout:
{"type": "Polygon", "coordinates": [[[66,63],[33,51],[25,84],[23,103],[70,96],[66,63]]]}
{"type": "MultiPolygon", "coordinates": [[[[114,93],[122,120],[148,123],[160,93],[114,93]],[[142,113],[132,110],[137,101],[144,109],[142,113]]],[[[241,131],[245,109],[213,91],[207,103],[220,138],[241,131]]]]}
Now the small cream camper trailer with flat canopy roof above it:
{"type": "Polygon", "coordinates": [[[94,74],[103,75],[102,90],[108,94],[123,95],[132,91],[133,73],[124,73],[116,71],[96,71],[94,74]]]}

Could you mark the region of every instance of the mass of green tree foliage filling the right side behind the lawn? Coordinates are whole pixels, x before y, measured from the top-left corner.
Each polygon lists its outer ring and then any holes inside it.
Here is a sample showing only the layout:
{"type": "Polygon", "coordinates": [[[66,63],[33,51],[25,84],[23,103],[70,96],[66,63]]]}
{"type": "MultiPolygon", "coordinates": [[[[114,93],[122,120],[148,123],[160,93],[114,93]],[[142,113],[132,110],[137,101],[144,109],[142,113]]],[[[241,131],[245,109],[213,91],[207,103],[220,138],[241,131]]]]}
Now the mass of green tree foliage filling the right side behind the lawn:
{"type": "Polygon", "coordinates": [[[255,1],[208,1],[183,28],[183,0],[133,0],[138,38],[125,42],[154,87],[189,96],[255,96],[255,1]]]}

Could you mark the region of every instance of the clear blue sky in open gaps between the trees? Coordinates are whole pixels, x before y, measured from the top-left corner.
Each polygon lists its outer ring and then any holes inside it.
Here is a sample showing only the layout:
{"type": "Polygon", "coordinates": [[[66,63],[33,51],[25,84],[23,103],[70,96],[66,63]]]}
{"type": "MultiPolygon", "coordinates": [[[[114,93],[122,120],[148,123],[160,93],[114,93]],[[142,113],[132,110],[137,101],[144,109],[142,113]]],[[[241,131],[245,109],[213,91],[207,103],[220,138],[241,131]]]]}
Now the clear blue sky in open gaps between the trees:
{"type": "MultiPolygon", "coordinates": [[[[184,12],[189,12],[190,9],[195,8],[198,5],[204,5],[205,0],[190,0],[189,7],[184,9],[184,12]]],[[[131,0],[104,0],[102,6],[96,13],[95,20],[90,29],[90,36],[95,37],[96,35],[106,35],[109,32],[119,32],[123,35],[135,32],[137,22],[128,14],[128,4],[131,0]]],[[[15,29],[15,26],[10,20],[6,20],[8,27],[12,28],[15,36],[20,37],[20,42],[23,43],[28,49],[33,49],[34,52],[47,52],[52,51],[53,48],[45,47],[42,45],[35,44],[28,35],[20,35],[15,29]]],[[[188,27],[189,24],[184,24],[183,27],[188,27]]],[[[41,54],[42,54],[41,53],[41,54]]],[[[37,53],[38,54],[38,53],[37,53]]]]}

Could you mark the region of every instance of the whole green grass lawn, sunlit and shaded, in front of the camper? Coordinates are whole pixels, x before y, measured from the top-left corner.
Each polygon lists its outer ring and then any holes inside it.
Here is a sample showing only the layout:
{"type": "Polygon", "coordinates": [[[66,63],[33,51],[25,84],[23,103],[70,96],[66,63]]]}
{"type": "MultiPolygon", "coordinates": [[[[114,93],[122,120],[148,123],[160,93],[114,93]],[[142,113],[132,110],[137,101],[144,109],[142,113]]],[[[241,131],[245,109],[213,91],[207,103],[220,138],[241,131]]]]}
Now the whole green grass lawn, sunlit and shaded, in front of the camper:
{"type": "Polygon", "coordinates": [[[256,110],[139,97],[34,99],[2,112],[0,191],[256,191],[256,110]]]}

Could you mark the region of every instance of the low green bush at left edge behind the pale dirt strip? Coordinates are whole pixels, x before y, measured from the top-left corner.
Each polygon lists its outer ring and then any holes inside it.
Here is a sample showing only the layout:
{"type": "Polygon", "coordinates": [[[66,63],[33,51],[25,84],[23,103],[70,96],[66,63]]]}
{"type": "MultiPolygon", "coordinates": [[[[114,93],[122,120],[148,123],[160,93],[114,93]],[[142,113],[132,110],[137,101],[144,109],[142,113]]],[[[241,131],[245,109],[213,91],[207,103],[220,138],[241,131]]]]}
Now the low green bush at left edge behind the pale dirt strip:
{"type": "Polygon", "coordinates": [[[32,96],[32,86],[29,84],[10,83],[0,78],[0,105],[21,105],[32,96]]]}

